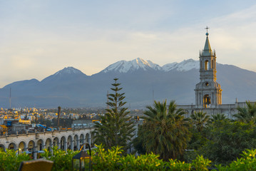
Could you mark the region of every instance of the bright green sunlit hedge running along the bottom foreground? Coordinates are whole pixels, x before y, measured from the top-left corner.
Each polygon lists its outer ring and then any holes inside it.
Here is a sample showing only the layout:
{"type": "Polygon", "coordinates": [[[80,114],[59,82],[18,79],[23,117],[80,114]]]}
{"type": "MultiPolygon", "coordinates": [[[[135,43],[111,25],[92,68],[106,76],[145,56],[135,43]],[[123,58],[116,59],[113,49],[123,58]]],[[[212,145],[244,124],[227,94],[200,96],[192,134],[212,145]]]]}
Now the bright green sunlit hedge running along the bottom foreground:
{"type": "MultiPolygon", "coordinates": [[[[54,161],[54,170],[71,170],[72,157],[78,151],[71,150],[63,151],[53,147],[53,154],[48,150],[41,155],[46,160],[54,161]]],[[[230,165],[211,166],[211,161],[203,156],[196,157],[190,163],[181,162],[178,160],[169,160],[165,162],[159,160],[159,155],[153,153],[147,155],[122,155],[121,147],[112,147],[110,150],[105,150],[101,145],[96,150],[93,150],[93,170],[208,170],[209,167],[216,167],[221,171],[232,170],[256,170],[256,150],[246,150],[242,152],[242,157],[230,163],[230,165]]],[[[16,155],[16,151],[0,150],[0,170],[13,171],[18,170],[21,161],[31,160],[31,157],[25,153],[16,155]]]]}

